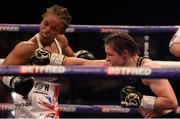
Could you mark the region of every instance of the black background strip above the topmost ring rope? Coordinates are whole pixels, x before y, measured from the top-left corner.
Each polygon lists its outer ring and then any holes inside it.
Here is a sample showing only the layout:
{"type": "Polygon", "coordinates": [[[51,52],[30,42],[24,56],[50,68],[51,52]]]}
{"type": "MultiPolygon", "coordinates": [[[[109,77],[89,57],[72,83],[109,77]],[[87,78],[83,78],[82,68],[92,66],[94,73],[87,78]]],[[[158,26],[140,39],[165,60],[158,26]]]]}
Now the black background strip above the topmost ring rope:
{"type": "Polygon", "coordinates": [[[176,25],[180,20],[178,0],[2,0],[0,21],[38,23],[53,4],[69,9],[72,24],[176,25]]]}

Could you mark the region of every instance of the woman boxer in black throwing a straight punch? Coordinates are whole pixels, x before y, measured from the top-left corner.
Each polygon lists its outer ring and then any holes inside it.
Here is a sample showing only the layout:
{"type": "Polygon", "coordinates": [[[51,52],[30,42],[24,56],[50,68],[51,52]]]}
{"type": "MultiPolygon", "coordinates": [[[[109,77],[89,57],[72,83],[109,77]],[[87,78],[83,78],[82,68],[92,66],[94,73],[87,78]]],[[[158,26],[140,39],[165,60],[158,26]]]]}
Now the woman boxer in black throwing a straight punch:
{"type": "MultiPolygon", "coordinates": [[[[106,60],[85,60],[75,57],[65,57],[49,54],[44,60],[57,65],[86,65],[86,66],[129,66],[129,67],[160,67],[150,59],[139,56],[139,46],[135,40],[124,32],[111,33],[104,38],[106,60]],[[61,60],[59,60],[61,59],[61,60]]],[[[36,50],[46,52],[43,49],[36,50]]],[[[33,55],[35,56],[35,55],[33,55]]],[[[34,57],[38,62],[42,58],[34,57]]],[[[36,62],[36,63],[38,63],[36,62]]],[[[47,63],[47,62],[46,62],[47,63]]],[[[123,107],[135,107],[145,118],[174,117],[178,106],[177,98],[168,79],[137,79],[127,78],[120,91],[120,102],[123,107]]]]}

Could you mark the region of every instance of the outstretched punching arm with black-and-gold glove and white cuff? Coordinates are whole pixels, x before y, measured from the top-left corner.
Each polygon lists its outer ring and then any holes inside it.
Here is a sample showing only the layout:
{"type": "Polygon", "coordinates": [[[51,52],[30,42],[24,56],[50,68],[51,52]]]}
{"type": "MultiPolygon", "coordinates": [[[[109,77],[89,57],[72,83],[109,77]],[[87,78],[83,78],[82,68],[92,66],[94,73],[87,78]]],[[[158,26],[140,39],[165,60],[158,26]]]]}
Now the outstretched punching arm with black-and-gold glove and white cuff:
{"type": "Polygon", "coordinates": [[[76,57],[67,57],[57,53],[49,53],[39,48],[31,57],[32,64],[37,65],[84,65],[84,66],[108,66],[106,60],[86,60],[76,57]]]}

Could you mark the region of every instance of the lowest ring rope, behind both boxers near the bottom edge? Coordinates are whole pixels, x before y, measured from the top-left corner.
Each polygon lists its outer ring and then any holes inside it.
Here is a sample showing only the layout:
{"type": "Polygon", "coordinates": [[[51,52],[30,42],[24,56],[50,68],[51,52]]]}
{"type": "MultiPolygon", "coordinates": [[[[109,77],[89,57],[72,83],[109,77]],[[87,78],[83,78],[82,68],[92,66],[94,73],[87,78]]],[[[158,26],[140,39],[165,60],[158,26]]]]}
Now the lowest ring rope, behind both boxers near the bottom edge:
{"type": "MultiPolygon", "coordinates": [[[[0,103],[0,110],[13,111],[16,106],[11,103],[0,103]]],[[[138,113],[136,108],[122,108],[119,105],[69,105],[59,104],[59,112],[96,112],[96,113],[138,113]]],[[[176,110],[180,114],[180,107],[176,110]]]]}

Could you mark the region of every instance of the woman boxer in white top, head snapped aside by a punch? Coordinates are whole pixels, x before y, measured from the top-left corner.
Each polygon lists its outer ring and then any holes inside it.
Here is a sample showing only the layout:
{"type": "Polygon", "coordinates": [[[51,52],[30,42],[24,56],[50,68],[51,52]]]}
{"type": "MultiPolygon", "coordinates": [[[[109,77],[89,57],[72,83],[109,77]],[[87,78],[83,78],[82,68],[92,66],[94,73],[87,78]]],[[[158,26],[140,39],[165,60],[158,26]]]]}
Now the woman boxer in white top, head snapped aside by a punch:
{"type": "MultiPolygon", "coordinates": [[[[28,41],[18,43],[2,65],[29,65],[33,52],[38,48],[69,57],[74,55],[64,35],[71,22],[67,8],[53,5],[47,8],[42,17],[39,33],[28,41]]],[[[14,101],[16,118],[59,118],[59,83],[54,82],[56,78],[40,78],[36,77],[34,80],[32,77],[3,77],[5,85],[21,94],[17,94],[14,101]]]]}

